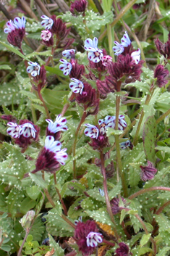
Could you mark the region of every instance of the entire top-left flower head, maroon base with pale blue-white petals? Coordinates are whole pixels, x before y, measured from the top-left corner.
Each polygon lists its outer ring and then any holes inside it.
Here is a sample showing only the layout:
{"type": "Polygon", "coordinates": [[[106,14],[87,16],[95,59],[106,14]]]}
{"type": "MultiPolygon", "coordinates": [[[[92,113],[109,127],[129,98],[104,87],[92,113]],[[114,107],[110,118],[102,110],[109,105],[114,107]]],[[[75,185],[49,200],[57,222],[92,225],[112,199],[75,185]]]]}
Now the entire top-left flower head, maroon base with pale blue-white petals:
{"type": "Polygon", "coordinates": [[[4,33],[7,33],[7,40],[9,44],[21,48],[22,40],[25,36],[25,17],[15,17],[14,22],[9,20],[7,22],[7,28],[4,29],[4,33]]]}

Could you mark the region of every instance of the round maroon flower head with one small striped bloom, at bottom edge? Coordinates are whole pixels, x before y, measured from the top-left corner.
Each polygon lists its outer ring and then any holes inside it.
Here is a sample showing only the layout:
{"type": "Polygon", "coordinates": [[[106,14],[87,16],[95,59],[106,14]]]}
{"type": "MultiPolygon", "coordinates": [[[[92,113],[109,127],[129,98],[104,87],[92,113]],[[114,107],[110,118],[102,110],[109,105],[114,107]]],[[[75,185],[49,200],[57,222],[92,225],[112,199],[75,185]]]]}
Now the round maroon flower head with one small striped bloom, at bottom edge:
{"type": "Polygon", "coordinates": [[[88,256],[93,253],[98,243],[103,241],[101,236],[93,220],[88,220],[86,223],[80,221],[77,223],[74,239],[83,256],[88,256]]]}

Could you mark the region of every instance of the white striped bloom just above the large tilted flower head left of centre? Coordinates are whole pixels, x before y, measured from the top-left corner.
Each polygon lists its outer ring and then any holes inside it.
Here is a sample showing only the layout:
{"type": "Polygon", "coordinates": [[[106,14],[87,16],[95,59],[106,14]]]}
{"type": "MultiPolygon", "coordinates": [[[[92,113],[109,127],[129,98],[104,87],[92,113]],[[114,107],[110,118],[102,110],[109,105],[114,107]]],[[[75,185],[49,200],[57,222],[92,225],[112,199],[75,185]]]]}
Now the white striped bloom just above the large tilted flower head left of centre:
{"type": "Polygon", "coordinates": [[[61,115],[58,115],[56,117],[55,122],[53,123],[52,120],[46,119],[46,122],[48,123],[48,131],[51,131],[51,133],[57,133],[58,131],[67,131],[67,119],[64,117],[61,117],[61,115]]]}

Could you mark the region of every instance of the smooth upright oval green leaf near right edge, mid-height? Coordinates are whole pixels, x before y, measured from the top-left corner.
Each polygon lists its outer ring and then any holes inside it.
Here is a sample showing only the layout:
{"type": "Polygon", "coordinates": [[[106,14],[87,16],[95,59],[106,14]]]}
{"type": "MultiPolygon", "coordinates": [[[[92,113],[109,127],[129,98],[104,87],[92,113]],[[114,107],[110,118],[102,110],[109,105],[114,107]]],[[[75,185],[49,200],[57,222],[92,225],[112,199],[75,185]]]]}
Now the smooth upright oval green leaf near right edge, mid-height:
{"type": "Polygon", "coordinates": [[[156,119],[148,117],[143,126],[143,146],[145,156],[150,162],[154,162],[156,158],[156,119]]]}

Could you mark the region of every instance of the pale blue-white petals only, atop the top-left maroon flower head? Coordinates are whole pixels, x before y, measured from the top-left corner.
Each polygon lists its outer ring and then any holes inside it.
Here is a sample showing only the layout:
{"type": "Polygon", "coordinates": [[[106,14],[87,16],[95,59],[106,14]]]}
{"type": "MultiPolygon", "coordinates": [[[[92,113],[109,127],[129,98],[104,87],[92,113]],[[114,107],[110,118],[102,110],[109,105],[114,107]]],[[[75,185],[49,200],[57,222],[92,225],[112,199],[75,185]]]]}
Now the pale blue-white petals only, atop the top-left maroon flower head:
{"type": "Polygon", "coordinates": [[[14,22],[12,20],[9,20],[7,22],[8,28],[4,29],[4,33],[10,33],[12,32],[12,30],[15,30],[16,28],[17,29],[25,28],[25,23],[26,23],[25,17],[22,17],[22,18],[16,17],[14,18],[14,22]]]}

